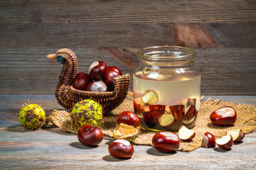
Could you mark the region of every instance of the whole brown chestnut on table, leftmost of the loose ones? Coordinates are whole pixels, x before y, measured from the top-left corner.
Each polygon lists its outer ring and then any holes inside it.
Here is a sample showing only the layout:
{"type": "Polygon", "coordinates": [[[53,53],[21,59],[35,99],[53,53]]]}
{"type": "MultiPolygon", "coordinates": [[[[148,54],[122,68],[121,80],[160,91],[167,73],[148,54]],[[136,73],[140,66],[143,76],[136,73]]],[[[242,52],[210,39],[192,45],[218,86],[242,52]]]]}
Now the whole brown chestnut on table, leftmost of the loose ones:
{"type": "Polygon", "coordinates": [[[99,128],[92,125],[83,125],[78,130],[78,140],[87,147],[96,147],[102,142],[103,133],[99,128]]]}

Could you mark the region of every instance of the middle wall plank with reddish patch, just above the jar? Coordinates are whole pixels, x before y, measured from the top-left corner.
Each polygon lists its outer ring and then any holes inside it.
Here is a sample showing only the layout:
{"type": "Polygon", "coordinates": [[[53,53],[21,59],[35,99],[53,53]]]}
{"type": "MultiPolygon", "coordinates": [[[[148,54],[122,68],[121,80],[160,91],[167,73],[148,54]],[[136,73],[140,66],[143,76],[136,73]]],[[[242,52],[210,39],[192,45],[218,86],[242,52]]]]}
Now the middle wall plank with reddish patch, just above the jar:
{"type": "Polygon", "coordinates": [[[203,25],[171,22],[0,23],[0,26],[0,47],[256,47],[255,22],[203,25]]]}

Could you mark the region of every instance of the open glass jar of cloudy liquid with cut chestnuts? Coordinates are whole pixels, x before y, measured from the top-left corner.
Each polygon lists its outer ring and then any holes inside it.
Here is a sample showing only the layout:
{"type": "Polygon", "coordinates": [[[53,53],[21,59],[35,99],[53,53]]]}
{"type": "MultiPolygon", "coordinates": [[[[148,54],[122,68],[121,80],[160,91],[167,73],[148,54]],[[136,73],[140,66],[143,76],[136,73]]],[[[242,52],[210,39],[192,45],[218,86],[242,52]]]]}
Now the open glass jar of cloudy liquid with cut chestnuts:
{"type": "Polygon", "coordinates": [[[161,46],[139,50],[133,75],[134,111],[149,130],[193,128],[200,108],[201,74],[196,51],[161,46]]]}

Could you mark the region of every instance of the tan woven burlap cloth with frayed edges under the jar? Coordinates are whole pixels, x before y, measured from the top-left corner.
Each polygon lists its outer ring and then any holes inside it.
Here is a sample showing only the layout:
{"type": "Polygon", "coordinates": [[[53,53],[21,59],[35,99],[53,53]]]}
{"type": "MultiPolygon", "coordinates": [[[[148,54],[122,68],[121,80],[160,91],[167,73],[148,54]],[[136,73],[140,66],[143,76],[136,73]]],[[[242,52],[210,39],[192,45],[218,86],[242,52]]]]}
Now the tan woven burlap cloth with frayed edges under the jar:
{"type": "MultiPolygon", "coordinates": [[[[113,130],[116,128],[117,115],[123,111],[134,111],[132,92],[129,92],[124,102],[112,112],[103,118],[103,123],[100,125],[100,129],[104,133],[105,139],[113,139],[113,130]]],[[[77,133],[78,129],[71,128],[71,118],[67,111],[53,111],[48,118],[46,118],[46,125],[53,123],[66,132],[77,133]]],[[[191,152],[198,147],[201,147],[203,134],[205,132],[211,132],[216,138],[226,135],[228,130],[242,129],[245,134],[249,134],[256,129],[256,107],[245,104],[235,105],[231,102],[224,102],[220,100],[210,101],[210,98],[206,101],[201,101],[201,108],[198,113],[198,119],[196,120],[196,126],[192,128],[196,132],[196,137],[191,142],[181,142],[178,150],[181,152],[191,152]],[[235,108],[237,112],[237,121],[234,126],[231,127],[219,127],[210,122],[210,113],[221,108],[223,106],[231,106],[235,108]]],[[[134,145],[152,145],[151,140],[156,132],[149,132],[147,130],[141,130],[139,137],[134,140],[134,145]]]]}

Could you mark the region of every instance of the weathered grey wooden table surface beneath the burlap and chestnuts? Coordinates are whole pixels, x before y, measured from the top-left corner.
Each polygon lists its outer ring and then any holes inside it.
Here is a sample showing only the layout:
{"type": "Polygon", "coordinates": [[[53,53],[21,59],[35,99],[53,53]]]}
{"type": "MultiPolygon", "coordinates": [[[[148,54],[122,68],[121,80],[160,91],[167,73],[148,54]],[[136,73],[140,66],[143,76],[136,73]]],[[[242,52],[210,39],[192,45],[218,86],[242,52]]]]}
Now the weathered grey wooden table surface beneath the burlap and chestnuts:
{"type": "MultiPolygon", "coordinates": [[[[213,99],[220,96],[212,96],[213,99]]],[[[208,98],[208,96],[206,96],[208,98]]],[[[224,101],[256,96],[221,96],[224,101]]],[[[85,147],[77,135],[60,128],[24,130],[16,113],[27,99],[49,115],[62,110],[53,95],[0,96],[0,169],[255,169],[256,132],[246,135],[230,151],[219,147],[193,152],[161,153],[153,147],[134,145],[131,159],[115,159],[108,152],[110,139],[99,147],[85,147]]],[[[255,102],[254,102],[255,103],[255,102]]],[[[252,102],[253,104],[253,102],[252,102]]]]}

